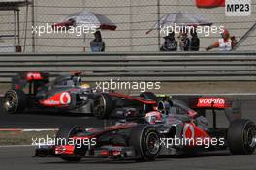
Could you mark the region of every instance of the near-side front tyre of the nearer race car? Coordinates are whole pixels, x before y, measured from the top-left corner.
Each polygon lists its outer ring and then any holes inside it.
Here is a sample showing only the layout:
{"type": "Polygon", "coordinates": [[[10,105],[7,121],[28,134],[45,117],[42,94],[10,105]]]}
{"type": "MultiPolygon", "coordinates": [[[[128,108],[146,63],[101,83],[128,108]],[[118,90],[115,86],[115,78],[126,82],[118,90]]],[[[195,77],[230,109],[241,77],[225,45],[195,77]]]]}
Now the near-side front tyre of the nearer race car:
{"type": "Polygon", "coordinates": [[[152,161],[161,150],[160,135],[156,128],[140,125],[133,128],[129,137],[129,146],[133,146],[143,161],[152,161]]]}

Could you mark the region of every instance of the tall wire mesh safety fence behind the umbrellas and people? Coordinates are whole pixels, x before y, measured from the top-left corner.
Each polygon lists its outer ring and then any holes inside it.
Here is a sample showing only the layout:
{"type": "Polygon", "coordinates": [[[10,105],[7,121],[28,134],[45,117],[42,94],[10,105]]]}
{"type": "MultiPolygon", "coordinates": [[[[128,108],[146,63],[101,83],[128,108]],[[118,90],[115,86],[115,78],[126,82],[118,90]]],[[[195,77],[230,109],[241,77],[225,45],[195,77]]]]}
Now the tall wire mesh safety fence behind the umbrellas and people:
{"type": "MultiPolygon", "coordinates": [[[[157,30],[145,34],[152,26],[166,14],[188,14],[193,17],[200,15],[214,26],[224,26],[232,36],[239,41],[244,34],[256,23],[256,4],[252,1],[252,14],[248,17],[228,17],[225,8],[204,9],[197,8],[196,1],[192,0],[30,0],[33,2],[27,7],[20,8],[20,45],[24,52],[81,52],[83,47],[90,51],[89,44],[92,34],[86,36],[76,34],[32,34],[31,26],[50,26],[60,22],[69,14],[80,11],[103,14],[110,18],[117,29],[103,31],[103,40],[106,51],[159,51],[159,45],[164,42],[164,34],[159,35],[157,30]]],[[[12,50],[14,45],[14,12],[0,12],[0,48],[12,50]]],[[[208,31],[208,30],[207,30],[208,31]]],[[[14,33],[15,32],[15,33],[14,33]]],[[[177,39],[176,35],[176,39],[177,39]]],[[[219,34],[208,36],[199,34],[200,50],[216,42],[219,34]]],[[[246,41],[240,44],[238,50],[255,50],[254,31],[248,35],[246,41]]],[[[17,43],[17,42],[16,42],[17,43]]]]}

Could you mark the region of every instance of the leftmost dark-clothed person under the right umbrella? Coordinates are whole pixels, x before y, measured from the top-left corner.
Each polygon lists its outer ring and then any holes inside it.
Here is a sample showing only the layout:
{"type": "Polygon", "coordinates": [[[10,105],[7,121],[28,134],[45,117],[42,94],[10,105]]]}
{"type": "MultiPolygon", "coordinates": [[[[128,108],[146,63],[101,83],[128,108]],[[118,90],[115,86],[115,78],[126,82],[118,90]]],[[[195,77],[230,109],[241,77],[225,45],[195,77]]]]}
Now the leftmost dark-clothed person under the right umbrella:
{"type": "Polygon", "coordinates": [[[176,51],[177,42],[175,38],[175,32],[169,33],[168,36],[164,37],[165,42],[160,47],[160,51],[176,51]]]}

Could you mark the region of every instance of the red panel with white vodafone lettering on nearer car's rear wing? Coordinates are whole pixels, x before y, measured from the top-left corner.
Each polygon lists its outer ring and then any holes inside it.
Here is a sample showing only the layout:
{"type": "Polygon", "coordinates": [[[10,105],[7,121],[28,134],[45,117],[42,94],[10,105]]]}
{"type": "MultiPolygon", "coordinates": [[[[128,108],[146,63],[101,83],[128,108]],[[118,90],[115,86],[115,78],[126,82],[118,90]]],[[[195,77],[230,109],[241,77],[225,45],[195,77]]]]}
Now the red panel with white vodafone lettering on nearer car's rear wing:
{"type": "Polygon", "coordinates": [[[197,107],[225,108],[225,99],[209,97],[199,98],[197,107]]]}

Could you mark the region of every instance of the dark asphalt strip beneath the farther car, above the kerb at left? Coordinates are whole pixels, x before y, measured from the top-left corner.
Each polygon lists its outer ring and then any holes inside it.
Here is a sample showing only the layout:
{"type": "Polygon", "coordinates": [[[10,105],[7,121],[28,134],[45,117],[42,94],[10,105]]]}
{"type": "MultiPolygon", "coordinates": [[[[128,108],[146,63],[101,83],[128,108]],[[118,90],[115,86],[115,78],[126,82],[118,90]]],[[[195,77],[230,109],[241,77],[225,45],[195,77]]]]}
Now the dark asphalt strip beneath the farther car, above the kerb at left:
{"type": "Polygon", "coordinates": [[[1,113],[0,128],[59,128],[67,124],[86,125],[88,128],[101,127],[104,122],[94,117],[69,113],[26,112],[10,115],[1,113]]]}

